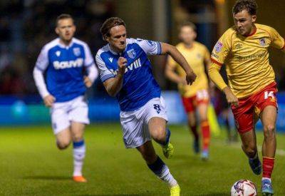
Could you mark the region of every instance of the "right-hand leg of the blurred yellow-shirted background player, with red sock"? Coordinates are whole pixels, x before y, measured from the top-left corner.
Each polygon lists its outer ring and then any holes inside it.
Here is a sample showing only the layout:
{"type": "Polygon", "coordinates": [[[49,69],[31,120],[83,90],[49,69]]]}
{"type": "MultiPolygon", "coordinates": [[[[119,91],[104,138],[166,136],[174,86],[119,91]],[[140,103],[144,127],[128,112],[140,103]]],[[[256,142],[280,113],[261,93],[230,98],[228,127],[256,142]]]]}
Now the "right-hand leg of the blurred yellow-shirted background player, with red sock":
{"type": "Polygon", "coordinates": [[[207,160],[209,158],[209,121],[207,117],[208,103],[199,103],[197,105],[197,111],[200,120],[200,127],[202,132],[202,159],[207,160]]]}

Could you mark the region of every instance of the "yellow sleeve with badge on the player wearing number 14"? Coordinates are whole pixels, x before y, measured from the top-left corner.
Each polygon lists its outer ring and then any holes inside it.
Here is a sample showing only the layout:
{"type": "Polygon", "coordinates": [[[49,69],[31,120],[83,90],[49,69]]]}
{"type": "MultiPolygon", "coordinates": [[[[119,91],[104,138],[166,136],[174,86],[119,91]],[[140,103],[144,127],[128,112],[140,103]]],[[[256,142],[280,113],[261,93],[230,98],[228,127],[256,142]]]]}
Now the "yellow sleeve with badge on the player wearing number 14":
{"type": "Polygon", "coordinates": [[[216,45],[214,45],[211,54],[211,60],[214,63],[222,66],[229,54],[229,51],[231,50],[231,40],[232,35],[227,33],[227,31],[219,38],[219,41],[217,41],[216,45]]]}

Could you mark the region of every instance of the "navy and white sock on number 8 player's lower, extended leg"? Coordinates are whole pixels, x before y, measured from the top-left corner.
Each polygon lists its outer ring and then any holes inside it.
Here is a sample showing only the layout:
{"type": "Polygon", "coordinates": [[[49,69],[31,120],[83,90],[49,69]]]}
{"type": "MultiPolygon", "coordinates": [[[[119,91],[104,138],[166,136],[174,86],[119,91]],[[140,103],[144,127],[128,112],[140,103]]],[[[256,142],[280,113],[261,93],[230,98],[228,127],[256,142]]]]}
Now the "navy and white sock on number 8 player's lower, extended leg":
{"type": "Polygon", "coordinates": [[[157,156],[157,160],[155,163],[147,164],[147,166],[155,173],[155,175],[166,182],[170,187],[174,187],[177,185],[177,181],[174,177],[170,174],[170,170],[168,169],[167,165],[157,156]]]}

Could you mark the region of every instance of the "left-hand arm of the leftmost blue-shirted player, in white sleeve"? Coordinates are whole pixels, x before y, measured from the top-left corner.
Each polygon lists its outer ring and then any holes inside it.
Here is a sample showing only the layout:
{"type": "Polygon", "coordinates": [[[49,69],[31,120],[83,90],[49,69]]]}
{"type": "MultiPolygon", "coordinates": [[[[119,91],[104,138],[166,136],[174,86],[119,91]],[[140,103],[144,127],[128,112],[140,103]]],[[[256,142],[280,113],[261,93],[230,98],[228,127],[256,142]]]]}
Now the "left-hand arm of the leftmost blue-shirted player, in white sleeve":
{"type": "Polygon", "coordinates": [[[46,83],[44,81],[43,73],[46,71],[48,66],[48,56],[45,48],[41,50],[40,55],[36,61],[36,66],[33,68],[33,79],[36,83],[36,87],[38,88],[38,93],[40,93],[41,98],[43,98],[43,102],[47,107],[51,107],[53,105],[56,98],[54,98],[46,88],[46,83]]]}

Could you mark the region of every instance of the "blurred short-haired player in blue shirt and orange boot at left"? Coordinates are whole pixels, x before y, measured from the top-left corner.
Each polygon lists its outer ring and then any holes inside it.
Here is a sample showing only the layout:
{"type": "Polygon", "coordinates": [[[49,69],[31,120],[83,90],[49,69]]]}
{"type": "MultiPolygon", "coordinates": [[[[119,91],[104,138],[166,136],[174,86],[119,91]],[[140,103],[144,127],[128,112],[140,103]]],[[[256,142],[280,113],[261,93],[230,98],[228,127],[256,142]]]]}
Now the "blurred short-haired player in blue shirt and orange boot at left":
{"type": "Polygon", "coordinates": [[[58,16],[58,38],[43,46],[33,69],[33,78],[45,105],[51,108],[58,148],[66,149],[73,141],[73,180],[86,182],[82,175],[86,153],[83,132],[89,119],[84,94],[98,77],[98,70],[88,45],[73,38],[75,31],[72,16],[58,16]],[[83,76],[83,66],[88,76],[83,76]]]}

